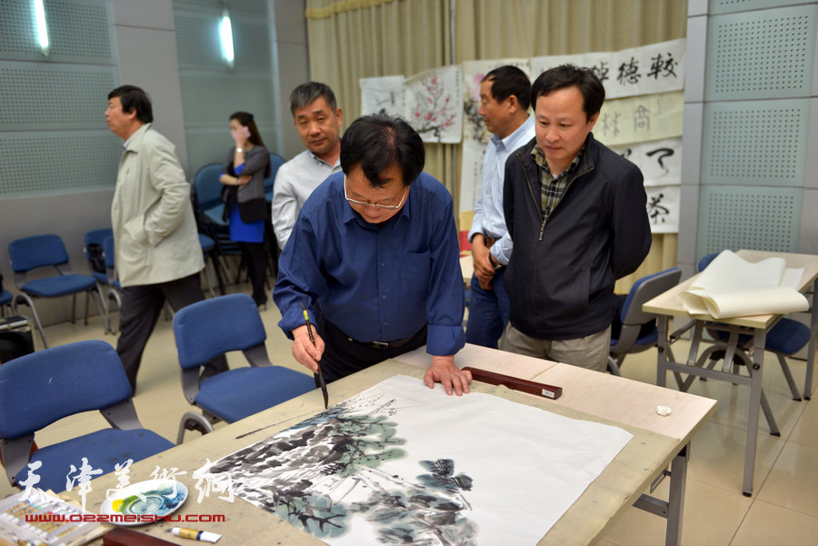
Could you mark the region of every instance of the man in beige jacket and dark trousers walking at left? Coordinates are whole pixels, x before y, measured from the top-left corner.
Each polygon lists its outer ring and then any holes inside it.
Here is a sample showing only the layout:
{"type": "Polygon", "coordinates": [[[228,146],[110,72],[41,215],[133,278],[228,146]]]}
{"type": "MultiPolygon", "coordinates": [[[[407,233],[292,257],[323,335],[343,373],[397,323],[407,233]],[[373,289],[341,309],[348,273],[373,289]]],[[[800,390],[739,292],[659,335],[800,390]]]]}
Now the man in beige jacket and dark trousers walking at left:
{"type": "MultiPolygon", "coordinates": [[[[123,287],[116,352],[134,391],[145,343],[165,300],[179,310],[205,299],[196,278],[205,261],[190,184],[174,144],[151,127],[153,121],[151,101],[139,87],[123,85],[108,94],[105,123],[125,141],[111,204],[116,271],[123,287]]],[[[202,376],[225,370],[222,356],[208,363],[202,376]]]]}

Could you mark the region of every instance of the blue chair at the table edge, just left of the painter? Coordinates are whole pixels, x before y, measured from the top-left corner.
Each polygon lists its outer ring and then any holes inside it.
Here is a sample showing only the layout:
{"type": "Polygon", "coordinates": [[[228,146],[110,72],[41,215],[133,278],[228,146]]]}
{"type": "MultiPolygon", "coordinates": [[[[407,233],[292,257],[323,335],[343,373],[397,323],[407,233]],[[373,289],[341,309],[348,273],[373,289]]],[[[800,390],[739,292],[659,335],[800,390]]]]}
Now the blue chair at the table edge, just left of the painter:
{"type": "Polygon", "coordinates": [[[239,421],[315,388],[311,376],[270,362],[264,323],[247,294],[218,296],[180,309],[174,316],[174,334],[182,390],[187,402],[202,410],[182,416],[176,443],[182,443],[185,430],[213,432],[214,422],[239,421]],[[200,366],[231,351],[244,352],[250,367],[199,381],[200,366]]]}

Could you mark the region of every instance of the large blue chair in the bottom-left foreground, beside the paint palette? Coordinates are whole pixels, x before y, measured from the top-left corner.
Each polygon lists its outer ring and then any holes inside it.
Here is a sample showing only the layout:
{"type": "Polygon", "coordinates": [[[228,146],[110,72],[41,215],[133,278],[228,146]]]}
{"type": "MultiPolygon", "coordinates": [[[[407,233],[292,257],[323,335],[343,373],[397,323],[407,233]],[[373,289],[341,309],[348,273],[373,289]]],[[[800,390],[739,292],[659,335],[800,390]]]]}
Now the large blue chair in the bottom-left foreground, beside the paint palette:
{"type": "Polygon", "coordinates": [[[142,427],[122,362],[106,342],[88,341],[32,352],[0,366],[0,452],[8,480],[22,487],[29,470],[43,490],[64,491],[72,465],[113,472],[174,447],[142,427]],[[113,428],[32,453],[35,432],[75,413],[98,410],[113,428]],[[31,463],[31,469],[28,465],[31,463]],[[39,464],[38,464],[39,463],[39,464]]]}

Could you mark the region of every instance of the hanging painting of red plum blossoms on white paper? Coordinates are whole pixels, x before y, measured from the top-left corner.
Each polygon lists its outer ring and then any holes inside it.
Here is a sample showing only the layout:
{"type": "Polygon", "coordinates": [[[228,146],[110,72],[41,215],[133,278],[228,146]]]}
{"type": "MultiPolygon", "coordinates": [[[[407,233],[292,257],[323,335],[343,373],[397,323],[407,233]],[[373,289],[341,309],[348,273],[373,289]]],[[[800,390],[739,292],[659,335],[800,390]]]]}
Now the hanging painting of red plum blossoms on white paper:
{"type": "Polygon", "coordinates": [[[462,84],[460,65],[443,66],[406,78],[406,119],[424,142],[460,142],[462,84]]]}

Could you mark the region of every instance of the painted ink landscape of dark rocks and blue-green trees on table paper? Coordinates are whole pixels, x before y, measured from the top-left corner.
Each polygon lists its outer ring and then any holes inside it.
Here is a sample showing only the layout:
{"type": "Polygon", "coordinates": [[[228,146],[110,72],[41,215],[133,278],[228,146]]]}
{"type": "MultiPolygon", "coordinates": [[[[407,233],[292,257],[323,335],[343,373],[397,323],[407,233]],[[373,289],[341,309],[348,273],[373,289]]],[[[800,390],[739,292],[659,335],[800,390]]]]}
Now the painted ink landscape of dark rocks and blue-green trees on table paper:
{"type": "Polygon", "coordinates": [[[414,480],[384,472],[406,457],[405,439],[389,419],[394,401],[372,402],[366,412],[343,402],[207,472],[229,473],[235,494],[324,541],[360,517],[382,544],[474,544],[478,526],[464,515],[472,478],[451,459],[419,461],[414,480]]]}

